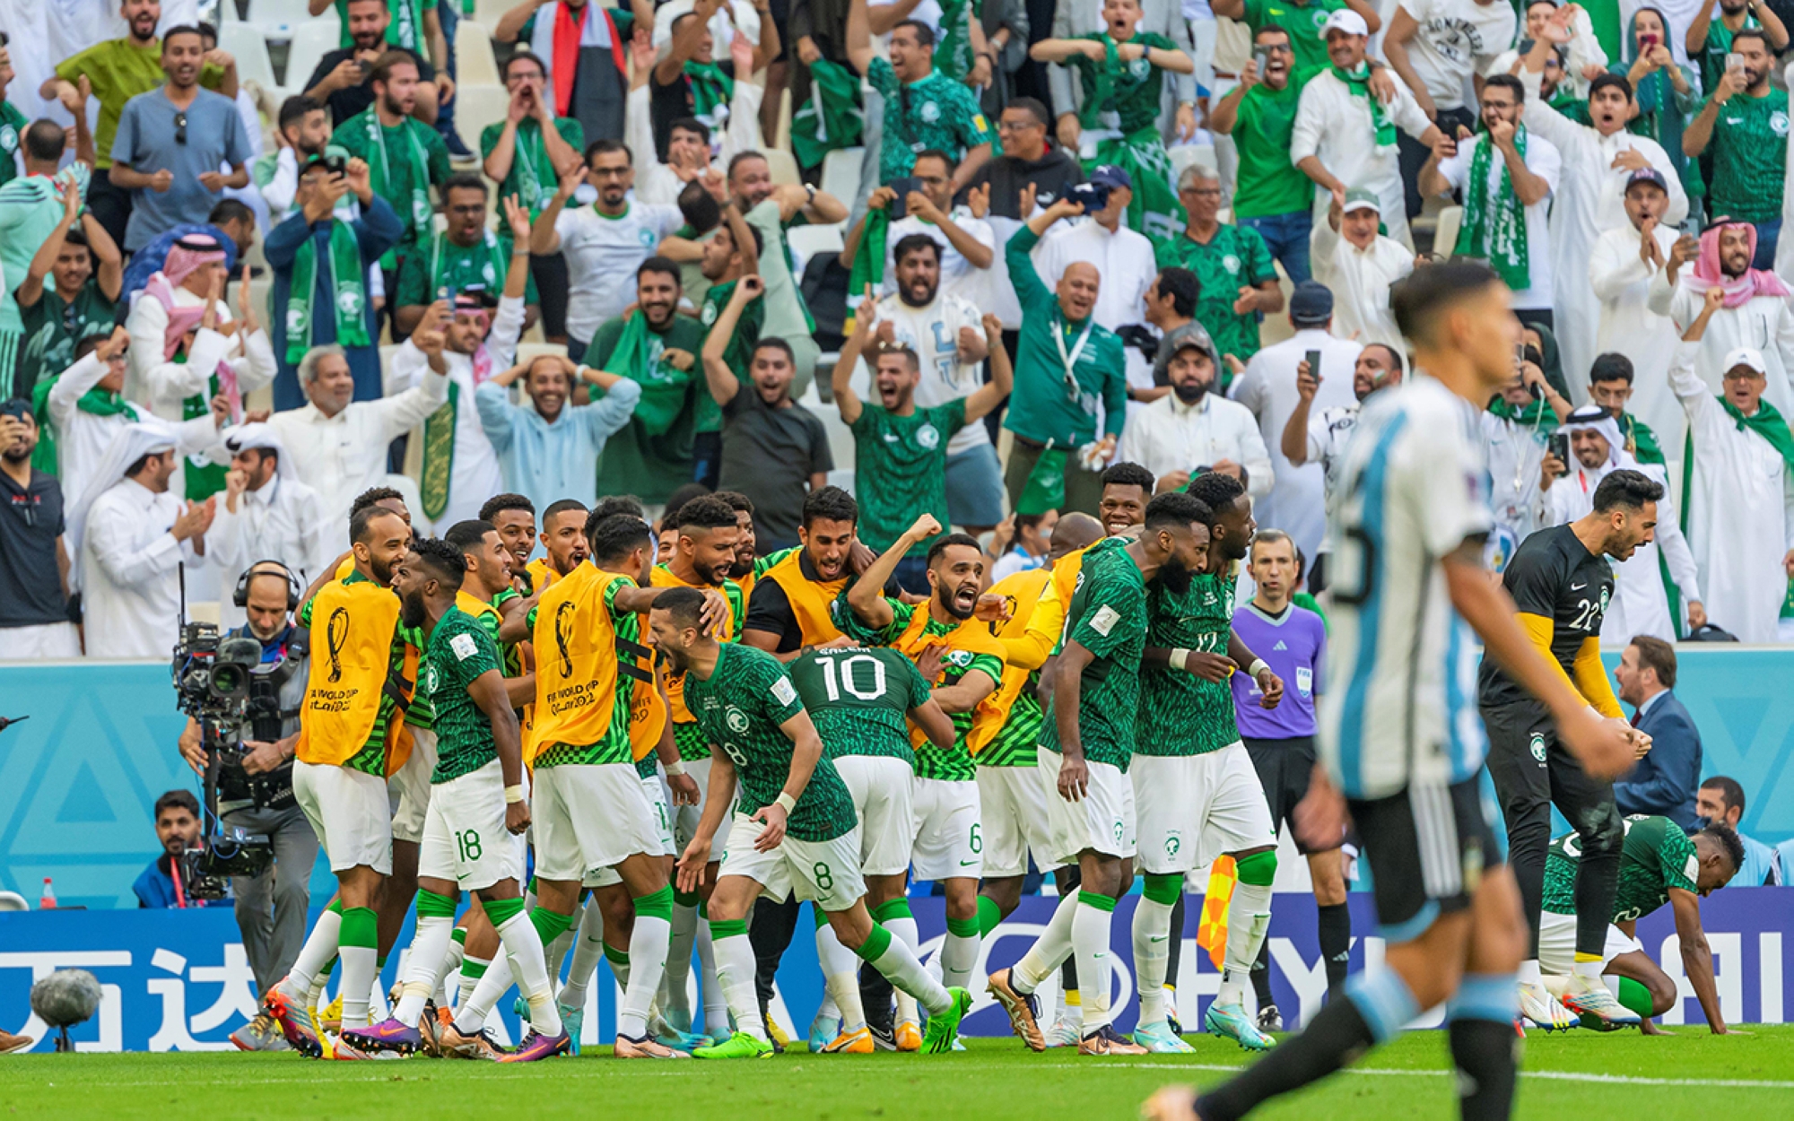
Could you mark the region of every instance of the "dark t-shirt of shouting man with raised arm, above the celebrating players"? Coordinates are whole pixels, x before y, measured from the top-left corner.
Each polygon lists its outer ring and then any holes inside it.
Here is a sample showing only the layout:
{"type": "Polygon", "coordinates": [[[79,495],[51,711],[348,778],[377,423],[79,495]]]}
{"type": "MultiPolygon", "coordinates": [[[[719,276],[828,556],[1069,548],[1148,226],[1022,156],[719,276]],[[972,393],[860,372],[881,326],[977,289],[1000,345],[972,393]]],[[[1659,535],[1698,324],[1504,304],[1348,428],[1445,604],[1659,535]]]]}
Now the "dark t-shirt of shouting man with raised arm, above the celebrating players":
{"type": "Polygon", "coordinates": [[[753,499],[753,526],[762,538],[795,542],[809,477],[831,470],[829,430],[804,405],[773,409],[750,382],[723,405],[718,486],[753,499]]]}

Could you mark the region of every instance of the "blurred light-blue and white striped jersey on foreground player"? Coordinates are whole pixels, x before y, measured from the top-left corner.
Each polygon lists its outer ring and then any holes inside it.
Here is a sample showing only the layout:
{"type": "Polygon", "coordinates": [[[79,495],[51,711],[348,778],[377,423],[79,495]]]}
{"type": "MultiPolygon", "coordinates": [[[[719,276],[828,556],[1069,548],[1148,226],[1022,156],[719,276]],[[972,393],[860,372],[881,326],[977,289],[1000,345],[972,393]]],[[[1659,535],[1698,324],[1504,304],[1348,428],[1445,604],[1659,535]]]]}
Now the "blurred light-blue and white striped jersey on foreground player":
{"type": "Polygon", "coordinates": [[[1494,524],[1476,409],[1430,377],[1371,396],[1329,513],[1320,755],[1347,798],[1469,778],[1487,752],[1476,637],[1441,558],[1494,524]]]}

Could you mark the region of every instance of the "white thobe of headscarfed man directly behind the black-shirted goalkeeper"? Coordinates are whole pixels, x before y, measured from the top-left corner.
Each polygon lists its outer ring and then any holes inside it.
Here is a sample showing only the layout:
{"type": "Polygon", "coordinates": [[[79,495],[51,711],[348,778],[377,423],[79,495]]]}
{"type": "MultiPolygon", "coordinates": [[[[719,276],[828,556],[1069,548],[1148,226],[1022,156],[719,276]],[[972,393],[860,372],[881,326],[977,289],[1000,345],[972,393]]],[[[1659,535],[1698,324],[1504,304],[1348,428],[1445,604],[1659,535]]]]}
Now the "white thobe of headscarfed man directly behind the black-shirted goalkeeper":
{"type": "MultiPolygon", "coordinates": [[[[1688,538],[1683,536],[1681,522],[1676,517],[1676,504],[1670,500],[1668,474],[1659,463],[1622,463],[1625,470],[1642,472],[1663,488],[1658,499],[1656,540],[1640,545],[1631,560],[1616,561],[1607,558],[1613,569],[1613,599],[1607,613],[1600,619],[1600,644],[1606,649],[1625,649],[1634,635],[1652,635],[1665,642],[1676,642],[1676,622],[1670,619],[1668,588],[1663,587],[1663,565],[1668,565],[1670,578],[1681,592],[1681,601],[1701,599],[1699,569],[1694,552],[1688,551],[1688,538]]],[[[1545,491],[1543,526],[1564,526],[1586,517],[1595,509],[1595,488],[1609,470],[1588,470],[1581,463],[1573,465],[1568,475],[1559,475],[1545,491]]]]}

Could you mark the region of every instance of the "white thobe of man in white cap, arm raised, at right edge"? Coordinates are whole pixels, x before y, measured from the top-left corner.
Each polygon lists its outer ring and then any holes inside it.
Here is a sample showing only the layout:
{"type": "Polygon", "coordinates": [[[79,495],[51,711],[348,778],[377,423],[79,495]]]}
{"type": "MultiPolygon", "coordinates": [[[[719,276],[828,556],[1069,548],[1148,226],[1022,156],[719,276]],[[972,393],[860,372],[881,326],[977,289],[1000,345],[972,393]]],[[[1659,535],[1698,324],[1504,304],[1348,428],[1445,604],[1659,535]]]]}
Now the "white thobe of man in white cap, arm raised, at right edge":
{"type": "Polygon", "coordinates": [[[1688,413],[1688,549],[1706,590],[1706,617],[1738,642],[1776,642],[1794,549],[1794,477],[1769,441],[1740,429],[1695,373],[1697,344],[1670,362],[1670,389],[1688,413]]]}

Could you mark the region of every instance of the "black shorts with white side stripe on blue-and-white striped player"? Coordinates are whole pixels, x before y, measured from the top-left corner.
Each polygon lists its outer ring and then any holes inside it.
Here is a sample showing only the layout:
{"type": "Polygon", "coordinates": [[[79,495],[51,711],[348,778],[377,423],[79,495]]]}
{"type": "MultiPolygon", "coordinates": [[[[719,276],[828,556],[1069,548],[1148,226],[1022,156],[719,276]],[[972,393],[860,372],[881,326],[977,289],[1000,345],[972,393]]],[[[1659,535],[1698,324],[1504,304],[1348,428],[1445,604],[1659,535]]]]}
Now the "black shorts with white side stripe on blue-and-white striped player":
{"type": "Polygon", "coordinates": [[[1389,942],[1412,942],[1467,908],[1482,873],[1502,863],[1476,777],[1349,805],[1389,942]]]}

